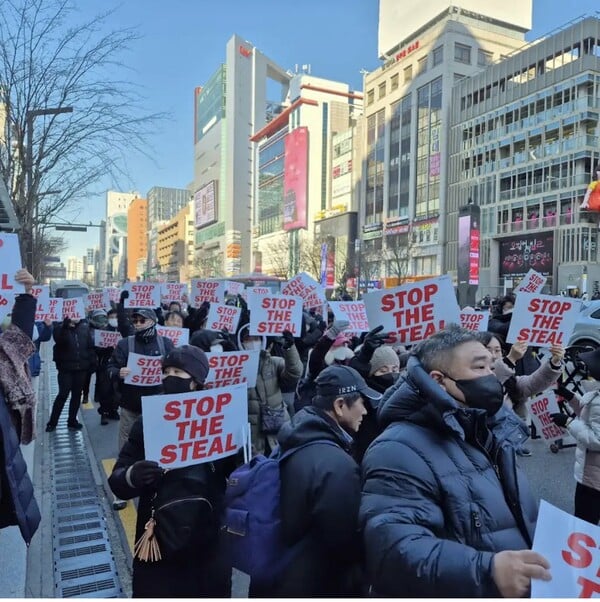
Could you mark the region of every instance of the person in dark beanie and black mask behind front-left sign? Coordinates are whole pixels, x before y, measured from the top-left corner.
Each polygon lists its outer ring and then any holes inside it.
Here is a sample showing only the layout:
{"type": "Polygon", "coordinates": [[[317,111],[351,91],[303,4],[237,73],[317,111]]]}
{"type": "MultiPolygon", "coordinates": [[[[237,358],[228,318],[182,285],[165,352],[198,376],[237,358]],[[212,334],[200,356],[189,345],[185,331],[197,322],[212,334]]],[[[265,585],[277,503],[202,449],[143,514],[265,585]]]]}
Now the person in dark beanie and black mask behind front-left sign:
{"type": "MultiPolygon", "coordinates": [[[[190,345],[178,347],[163,362],[164,393],[203,389],[207,374],[203,351],[190,345]]],[[[139,497],[133,597],[227,598],[231,595],[231,567],[219,552],[219,531],[231,461],[226,458],[164,470],[145,459],[142,420],[140,416],[133,423],[108,478],[118,498],[139,497]],[[169,507],[173,512],[166,515],[161,508],[169,507]],[[159,537],[161,526],[171,534],[168,541],[159,537]],[[155,530],[150,533],[151,529],[155,530]],[[160,557],[150,556],[156,552],[151,535],[156,537],[160,557]]]]}

